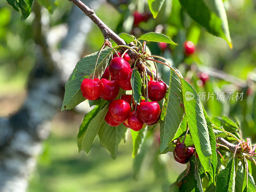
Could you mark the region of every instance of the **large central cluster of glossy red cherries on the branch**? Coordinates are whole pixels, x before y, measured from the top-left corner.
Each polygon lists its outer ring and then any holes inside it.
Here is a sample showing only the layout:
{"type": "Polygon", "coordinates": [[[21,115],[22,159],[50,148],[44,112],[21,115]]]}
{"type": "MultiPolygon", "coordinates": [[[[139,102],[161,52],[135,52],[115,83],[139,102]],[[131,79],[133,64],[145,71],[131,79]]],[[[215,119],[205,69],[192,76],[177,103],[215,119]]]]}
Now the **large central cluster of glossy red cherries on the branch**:
{"type": "Polygon", "coordinates": [[[115,55],[109,62],[109,66],[104,71],[101,79],[85,78],[83,80],[81,92],[84,98],[88,100],[98,100],[100,98],[112,100],[105,116],[105,120],[110,126],[118,126],[123,123],[126,127],[139,131],[143,124],[153,125],[159,121],[161,109],[157,101],[164,98],[167,87],[163,81],[149,81],[148,98],[151,102],[141,100],[136,112],[131,110],[136,108],[134,107],[135,103],[133,103],[132,95],[121,95],[120,99],[114,100],[119,93],[119,87],[124,90],[132,90],[131,77],[133,69],[130,67],[128,62],[130,57],[128,57],[125,57],[125,54],[123,58],[115,55]]]}

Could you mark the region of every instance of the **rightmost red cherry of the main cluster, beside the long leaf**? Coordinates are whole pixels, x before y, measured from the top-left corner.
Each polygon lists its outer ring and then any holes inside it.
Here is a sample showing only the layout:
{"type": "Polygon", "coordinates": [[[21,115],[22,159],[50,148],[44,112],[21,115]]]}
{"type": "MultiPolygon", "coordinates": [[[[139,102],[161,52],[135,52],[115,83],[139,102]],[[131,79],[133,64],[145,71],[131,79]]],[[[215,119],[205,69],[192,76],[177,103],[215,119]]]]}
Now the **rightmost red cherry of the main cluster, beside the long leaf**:
{"type": "Polygon", "coordinates": [[[166,84],[163,81],[155,80],[148,82],[148,99],[152,101],[160,101],[167,92],[166,84]]]}

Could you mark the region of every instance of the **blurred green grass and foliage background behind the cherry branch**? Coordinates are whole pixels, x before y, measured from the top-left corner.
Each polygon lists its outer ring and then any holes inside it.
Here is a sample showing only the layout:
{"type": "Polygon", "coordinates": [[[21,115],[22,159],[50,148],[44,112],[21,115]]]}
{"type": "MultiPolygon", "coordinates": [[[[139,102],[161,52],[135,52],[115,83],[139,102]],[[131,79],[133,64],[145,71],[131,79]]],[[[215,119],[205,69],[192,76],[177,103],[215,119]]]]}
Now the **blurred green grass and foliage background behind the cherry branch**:
{"type": "MultiPolygon", "coordinates": [[[[66,23],[72,3],[57,0],[58,7],[49,14],[50,27],[66,23]]],[[[156,43],[148,43],[153,54],[167,58],[184,77],[194,85],[197,92],[238,91],[244,92],[244,100],[203,102],[208,114],[225,114],[239,121],[243,136],[251,137],[255,143],[255,84],[256,80],[256,3],[251,0],[225,0],[229,30],[233,49],[221,38],[212,36],[200,28],[181,10],[177,0],[166,0],[158,17],[152,17],[139,26],[129,20],[135,10],[149,13],[144,1],[130,1],[126,4],[103,3],[96,14],[116,33],[126,32],[139,37],[149,31],[166,34],[178,45],[162,51],[156,43]],[[142,6],[143,5],[143,6],[142,6]],[[111,14],[109,14],[111,13],[111,14]],[[128,17],[128,16],[129,17],[128,17]],[[192,57],[185,57],[183,42],[191,40],[196,44],[192,57]],[[202,71],[223,72],[224,77],[211,76],[204,85],[200,84],[202,71]],[[245,84],[239,86],[233,83],[245,84]]],[[[44,8],[45,14],[48,14],[44,8]]],[[[133,18],[132,18],[133,19],[133,18]]],[[[4,0],[0,0],[0,110],[1,116],[15,113],[26,98],[27,78],[34,66],[36,44],[32,34],[33,15],[21,22],[4,0]]],[[[98,51],[103,43],[101,31],[92,25],[84,46],[84,55],[98,51]]],[[[81,55],[82,57],[83,55],[81,55]]],[[[159,67],[159,74],[169,81],[169,69],[159,67]]],[[[84,114],[75,110],[59,112],[52,120],[52,131],[44,141],[42,154],[30,178],[28,191],[122,191],[151,192],[165,191],[174,182],[185,165],[177,164],[172,154],[158,156],[159,162],[167,165],[167,177],[156,177],[154,167],[149,166],[139,181],[133,180],[132,139],[128,133],[127,142],[121,142],[115,160],[100,146],[98,138],[86,155],[78,154],[76,136],[84,114]]]]}

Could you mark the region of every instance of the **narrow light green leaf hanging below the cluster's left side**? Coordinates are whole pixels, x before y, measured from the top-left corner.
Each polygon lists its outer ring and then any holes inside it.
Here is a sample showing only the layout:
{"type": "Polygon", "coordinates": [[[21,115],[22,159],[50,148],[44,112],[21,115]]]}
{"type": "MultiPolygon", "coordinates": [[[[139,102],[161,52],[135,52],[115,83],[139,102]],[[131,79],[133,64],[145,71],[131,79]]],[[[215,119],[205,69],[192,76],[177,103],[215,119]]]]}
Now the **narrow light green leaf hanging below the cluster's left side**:
{"type": "Polygon", "coordinates": [[[100,126],[104,120],[104,117],[106,116],[108,112],[108,104],[102,108],[97,115],[92,119],[90,124],[88,125],[83,137],[81,138],[81,148],[84,149],[84,151],[88,154],[91,147],[94,138],[96,137],[100,126]]]}

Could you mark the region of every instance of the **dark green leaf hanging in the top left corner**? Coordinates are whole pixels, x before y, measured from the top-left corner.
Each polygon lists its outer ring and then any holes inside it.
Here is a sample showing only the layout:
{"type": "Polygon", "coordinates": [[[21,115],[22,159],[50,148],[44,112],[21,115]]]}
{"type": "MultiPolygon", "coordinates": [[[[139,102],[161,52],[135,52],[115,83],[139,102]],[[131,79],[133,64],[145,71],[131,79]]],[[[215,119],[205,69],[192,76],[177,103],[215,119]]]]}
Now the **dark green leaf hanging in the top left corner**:
{"type": "Polygon", "coordinates": [[[21,13],[21,20],[28,18],[31,12],[31,6],[33,0],[7,0],[7,2],[12,5],[12,7],[21,13]]]}

